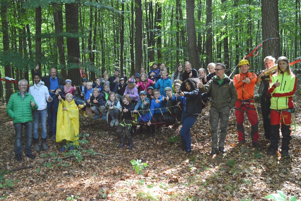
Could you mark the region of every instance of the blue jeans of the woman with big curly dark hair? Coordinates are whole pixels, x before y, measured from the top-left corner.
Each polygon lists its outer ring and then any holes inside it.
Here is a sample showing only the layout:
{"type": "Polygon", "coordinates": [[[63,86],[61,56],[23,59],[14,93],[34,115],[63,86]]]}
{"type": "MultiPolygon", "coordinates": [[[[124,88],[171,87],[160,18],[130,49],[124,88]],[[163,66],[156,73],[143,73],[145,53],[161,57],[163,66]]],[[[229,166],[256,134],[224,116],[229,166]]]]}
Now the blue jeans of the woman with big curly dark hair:
{"type": "Polygon", "coordinates": [[[182,128],[180,130],[180,136],[186,138],[186,149],[191,150],[191,136],[190,128],[197,120],[197,115],[187,115],[185,111],[182,112],[182,128]]]}

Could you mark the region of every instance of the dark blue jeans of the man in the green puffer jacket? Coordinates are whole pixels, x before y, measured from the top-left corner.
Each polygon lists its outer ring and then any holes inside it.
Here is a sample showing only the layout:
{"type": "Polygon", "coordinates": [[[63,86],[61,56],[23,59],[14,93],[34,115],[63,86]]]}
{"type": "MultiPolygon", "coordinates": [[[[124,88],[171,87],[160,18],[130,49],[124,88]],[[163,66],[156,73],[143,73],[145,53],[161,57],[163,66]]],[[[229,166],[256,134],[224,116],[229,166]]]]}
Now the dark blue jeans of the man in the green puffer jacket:
{"type": "Polygon", "coordinates": [[[31,138],[33,132],[33,122],[17,123],[14,124],[15,127],[15,154],[21,154],[22,152],[22,131],[23,126],[25,127],[25,154],[30,154],[32,150],[31,147],[31,138]]]}

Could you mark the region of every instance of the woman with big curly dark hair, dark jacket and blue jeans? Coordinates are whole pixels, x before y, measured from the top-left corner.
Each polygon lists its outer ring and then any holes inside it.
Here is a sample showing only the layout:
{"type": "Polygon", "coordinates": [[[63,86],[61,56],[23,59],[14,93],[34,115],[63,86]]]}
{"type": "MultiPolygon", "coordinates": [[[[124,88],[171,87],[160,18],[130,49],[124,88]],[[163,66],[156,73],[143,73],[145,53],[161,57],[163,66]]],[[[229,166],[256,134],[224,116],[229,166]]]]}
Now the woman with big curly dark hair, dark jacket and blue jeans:
{"type": "Polygon", "coordinates": [[[197,115],[201,113],[202,106],[200,104],[201,94],[198,89],[199,79],[188,78],[181,85],[180,96],[183,96],[182,111],[182,128],[180,137],[182,139],[182,150],[187,153],[191,152],[191,136],[190,128],[197,120],[197,115]]]}

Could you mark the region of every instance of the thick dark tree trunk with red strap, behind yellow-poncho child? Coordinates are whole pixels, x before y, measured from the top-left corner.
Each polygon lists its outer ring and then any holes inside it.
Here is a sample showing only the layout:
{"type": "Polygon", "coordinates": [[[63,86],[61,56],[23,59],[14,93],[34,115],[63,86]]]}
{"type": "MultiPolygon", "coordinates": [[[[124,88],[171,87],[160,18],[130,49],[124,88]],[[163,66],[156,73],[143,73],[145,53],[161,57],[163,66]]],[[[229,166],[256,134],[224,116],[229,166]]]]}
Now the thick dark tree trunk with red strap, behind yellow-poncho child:
{"type": "MultiPolygon", "coordinates": [[[[78,33],[78,14],[79,7],[75,3],[65,4],[66,32],[78,33]]],[[[79,38],[67,37],[67,62],[68,64],[78,64],[80,58],[79,38]]],[[[75,65],[68,70],[68,78],[73,85],[80,85],[82,80],[79,73],[79,66],[75,65]]]]}

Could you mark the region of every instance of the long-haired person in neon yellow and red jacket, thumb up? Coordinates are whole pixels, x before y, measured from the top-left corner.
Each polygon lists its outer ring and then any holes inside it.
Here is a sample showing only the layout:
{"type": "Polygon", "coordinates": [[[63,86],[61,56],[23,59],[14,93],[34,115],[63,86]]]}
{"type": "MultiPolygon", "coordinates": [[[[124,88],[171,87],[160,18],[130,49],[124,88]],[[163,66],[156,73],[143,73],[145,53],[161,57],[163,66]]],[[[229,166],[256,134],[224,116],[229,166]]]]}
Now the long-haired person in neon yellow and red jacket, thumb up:
{"type": "Polygon", "coordinates": [[[288,150],[290,145],[291,115],[294,112],[293,95],[297,88],[297,77],[290,71],[290,61],[282,56],[277,61],[277,73],[270,81],[268,93],[271,98],[271,145],[269,155],[276,155],[280,141],[279,128],[281,123],[282,146],[281,157],[290,157],[288,150]]]}

